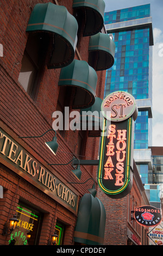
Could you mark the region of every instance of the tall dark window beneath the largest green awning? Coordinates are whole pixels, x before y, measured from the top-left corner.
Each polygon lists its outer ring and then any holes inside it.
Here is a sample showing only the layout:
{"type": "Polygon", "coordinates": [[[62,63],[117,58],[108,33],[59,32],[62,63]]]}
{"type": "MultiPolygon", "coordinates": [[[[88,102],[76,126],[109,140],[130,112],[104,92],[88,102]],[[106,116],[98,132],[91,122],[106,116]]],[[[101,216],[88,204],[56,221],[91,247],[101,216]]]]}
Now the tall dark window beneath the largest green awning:
{"type": "Polygon", "coordinates": [[[39,90],[47,53],[48,36],[40,33],[29,34],[22,58],[18,82],[32,97],[36,99],[39,90]]]}

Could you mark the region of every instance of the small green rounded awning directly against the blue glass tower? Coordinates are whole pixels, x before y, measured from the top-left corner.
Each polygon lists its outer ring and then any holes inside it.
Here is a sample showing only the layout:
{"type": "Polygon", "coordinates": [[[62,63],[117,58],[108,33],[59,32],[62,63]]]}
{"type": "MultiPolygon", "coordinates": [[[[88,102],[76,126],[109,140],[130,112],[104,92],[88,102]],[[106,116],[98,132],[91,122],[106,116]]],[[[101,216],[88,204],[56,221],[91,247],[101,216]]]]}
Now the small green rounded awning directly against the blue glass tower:
{"type": "Polygon", "coordinates": [[[114,64],[115,42],[108,34],[92,35],[89,42],[89,65],[95,70],[106,70],[114,64]]]}

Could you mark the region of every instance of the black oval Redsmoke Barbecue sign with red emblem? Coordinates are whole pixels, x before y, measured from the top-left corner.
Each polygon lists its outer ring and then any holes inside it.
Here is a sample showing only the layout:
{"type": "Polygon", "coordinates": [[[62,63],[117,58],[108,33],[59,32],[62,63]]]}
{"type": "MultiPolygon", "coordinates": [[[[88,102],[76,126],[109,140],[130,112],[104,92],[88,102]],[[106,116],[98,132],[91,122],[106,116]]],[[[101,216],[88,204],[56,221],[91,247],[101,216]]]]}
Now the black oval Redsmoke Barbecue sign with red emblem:
{"type": "Polygon", "coordinates": [[[161,210],[152,205],[135,207],[134,218],[140,225],[153,227],[161,222],[161,210]]]}

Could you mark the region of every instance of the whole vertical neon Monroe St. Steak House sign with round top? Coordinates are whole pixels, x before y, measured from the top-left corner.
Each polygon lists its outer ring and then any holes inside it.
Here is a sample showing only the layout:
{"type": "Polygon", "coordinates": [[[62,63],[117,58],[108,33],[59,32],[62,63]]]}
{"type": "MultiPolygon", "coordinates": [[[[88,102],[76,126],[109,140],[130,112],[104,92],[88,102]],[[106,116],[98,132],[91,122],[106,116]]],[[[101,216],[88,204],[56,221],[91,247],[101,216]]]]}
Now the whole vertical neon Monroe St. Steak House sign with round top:
{"type": "Polygon", "coordinates": [[[98,185],[111,198],[122,198],[133,183],[133,133],[137,118],[135,99],[127,92],[114,92],[102,102],[104,116],[98,185]],[[110,115],[108,116],[108,112],[110,115]]]}

